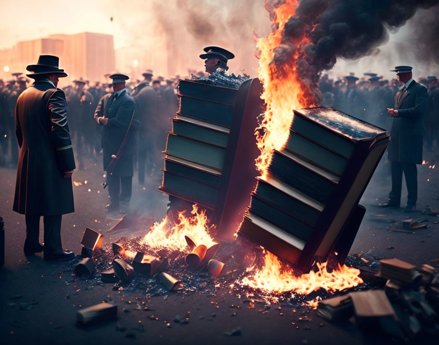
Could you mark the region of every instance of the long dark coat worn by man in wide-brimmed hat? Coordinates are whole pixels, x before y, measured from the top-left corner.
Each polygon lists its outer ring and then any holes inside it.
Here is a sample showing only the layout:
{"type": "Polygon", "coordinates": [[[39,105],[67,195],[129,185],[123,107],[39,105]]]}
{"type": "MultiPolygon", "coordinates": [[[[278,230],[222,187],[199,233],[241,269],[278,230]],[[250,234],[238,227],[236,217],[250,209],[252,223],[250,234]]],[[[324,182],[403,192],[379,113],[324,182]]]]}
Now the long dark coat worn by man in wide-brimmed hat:
{"type": "Polygon", "coordinates": [[[35,81],[18,98],[15,121],[20,154],[13,210],[39,216],[74,212],[72,178],[63,177],[75,169],[64,91],[35,81]]]}

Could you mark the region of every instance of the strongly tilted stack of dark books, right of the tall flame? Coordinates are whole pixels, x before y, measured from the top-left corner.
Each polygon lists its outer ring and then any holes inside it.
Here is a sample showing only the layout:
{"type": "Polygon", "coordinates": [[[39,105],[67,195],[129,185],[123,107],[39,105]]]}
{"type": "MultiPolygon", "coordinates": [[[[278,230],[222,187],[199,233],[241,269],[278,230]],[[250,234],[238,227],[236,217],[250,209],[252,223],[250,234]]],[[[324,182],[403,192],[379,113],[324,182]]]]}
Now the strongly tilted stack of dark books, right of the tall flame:
{"type": "Polygon", "coordinates": [[[302,271],[334,251],[344,261],[365,213],[358,202],[389,141],[385,130],[333,108],[294,111],[240,233],[302,271]]]}

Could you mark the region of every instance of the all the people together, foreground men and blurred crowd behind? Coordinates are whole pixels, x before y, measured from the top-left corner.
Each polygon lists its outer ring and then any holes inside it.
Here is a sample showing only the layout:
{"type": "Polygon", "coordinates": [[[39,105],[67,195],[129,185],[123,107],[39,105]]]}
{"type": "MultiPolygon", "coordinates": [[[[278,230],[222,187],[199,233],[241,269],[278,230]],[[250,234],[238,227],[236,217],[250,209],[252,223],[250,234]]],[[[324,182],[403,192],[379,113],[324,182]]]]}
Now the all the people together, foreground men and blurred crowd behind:
{"type": "MultiPolygon", "coordinates": [[[[192,75],[192,80],[238,89],[249,78],[226,74],[227,61],[234,58],[230,51],[219,47],[204,51],[200,58],[205,60],[206,74],[192,75]]],[[[373,73],[361,78],[350,74],[336,81],[323,75],[319,82],[323,106],[390,130],[392,189],[381,206],[400,207],[404,173],[407,212],[415,210],[416,164],[422,162],[423,141],[428,149],[435,141],[436,147],[439,144],[438,80],[420,77],[417,83],[412,69],[397,66],[393,70],[397,79],[390,82],[373,73]]],[[[106,75],[112,80],[108,84],[91,85],[80,78],[60,89],[59,78],[68,74],[59,68],[57,56],[40,55],[37,64],[26,70],[34,80],[31,88],[21,73],[14,73],[6,83],[0,80],[0,164],[17,166],[13,209],[26,216],[24,253],[44,250],[45,259],[71,259],[74,254],[62,249],[60,229],[62,215],[74,212],[73,171],[85,169],[84,158],[98,163],[102,156],[110,197],[106,208],[126,213],[135,162],[139,183],[145,182],[147,173],[160,169],[169,118],[178,111],[179,77],[153,79],[153,72],[147,70],[143,80],[133,82],[128,75],[112,73],[106,75]],[[41,216],[46,246],[38,242],[41,216]]],[[[185,203],[170,196],[168,212],[192,206],[185,203]]]]}

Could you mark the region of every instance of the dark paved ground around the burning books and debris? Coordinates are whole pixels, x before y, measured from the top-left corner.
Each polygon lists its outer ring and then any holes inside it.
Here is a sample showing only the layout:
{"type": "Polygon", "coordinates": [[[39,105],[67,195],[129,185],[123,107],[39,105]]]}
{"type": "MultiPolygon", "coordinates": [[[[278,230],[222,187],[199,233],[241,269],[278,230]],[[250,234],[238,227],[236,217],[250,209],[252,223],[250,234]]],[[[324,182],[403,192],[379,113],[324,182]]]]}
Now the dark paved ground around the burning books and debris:
{"type": "MultiPolygon", "coordinates": [[[[435,164],[431,153],[426,153],[425,160],[429,163],[418,167],[419,209],[426,205],[439,206],[439,165],[437,169],[429,169],[429,166],[435,164]]],[[[398,226],[397,222],[407,217],[407,214],[402,209],[383,210],[375,206],[384,201],[389,192],[389,179],[383,176],[385,168],[380,167],[362,199],[361,203],[366,206],[367,213],[351,253],[364,252],[363,256],[367,260],[374,256],[398,257],[416,265],[438,259],[439,224],[434,222],[439,218],[414,213],[410,216],[416,220],[428,219],[430,227],[414,233],[392,231],[398,226]]],[[[112,284],[92,285],[83,278],[75,279],[72,276],[72,263],[48,263],[42,260],[41,255],[27,259],[22,251],[24,216],[11,210],[15,171],[0,169],[0,177],[0,215],[4,218],[6,227],[6,262],[0,269],[2,344],[387,343],[380,336],[362,333],[350,322],[333,325],[318,318],[313,311],[302,308],[285,304],[273,305],[264,312],[263,305],[249,308],[244,302],[244,296],[239,296],[236,292],[229,293],[226,288],[219,288],[215,293],[147,296],[142,288],[114,291],[112,284]],[[79,308],[102,300],[112,300],[118,304],[118,322],[108,321],[87,328],[75,325],[75,314],[79,308]],[[142,306],[147,306],[147,310],[136,310],[133,306],[137,302],[143,302],[142,306]],[[240,308],[236,308],[237,306],[240,308]],[[126,312],[122,311],[123,308],[126,312]],[[182,320],[189,316],[189,322],[173,322],[172,319],[177,314],[182,320]],[[300,321],[299,317],[304,315],[311,320],[300,321]],[[171,327],[167,326],[168,322],[171,327]],[[231,331],[238,326],[242,329],[241,336],[223,335],[224,331],[231,331]]],[[[145,211],[157,221],[164,217],[167,204],[167,198],[154,191],[160,184],[160,178],[158,174],[149,177],[145,186],[137,183],[133,186],[134,207],[145,211]]],[[[63,217],[62,236],[65,248],[80,253],[79,243],[85,227],[101,231],[109,227],[103,211],[108,194],[102,189],[104,178],[100,165],[91,161],[86,170],[73,174],[73,180],[82,185],[73,187],[76,212],[63,217]]],[[[133,236],[139,233],[123,235],[133,236]]],[[[42,238],[42,234],[40,237],[42,238]]],[[[117,237],[105,236],[105,242],[111,243],[117,237]]],[[[212,285],[214,284],[215,279],[212,279],[212,285]]]]}

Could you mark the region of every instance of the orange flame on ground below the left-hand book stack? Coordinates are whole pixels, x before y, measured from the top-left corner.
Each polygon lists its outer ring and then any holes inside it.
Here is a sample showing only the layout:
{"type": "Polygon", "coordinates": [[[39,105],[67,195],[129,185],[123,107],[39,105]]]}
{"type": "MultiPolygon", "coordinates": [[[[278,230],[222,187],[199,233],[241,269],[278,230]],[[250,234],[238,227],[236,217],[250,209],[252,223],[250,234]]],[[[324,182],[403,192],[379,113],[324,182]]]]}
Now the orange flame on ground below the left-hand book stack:
{"type": "Polygon", "coordinates": [[[194,204],[191,217],[185,217],[184,212],[178,213],[178,223],[171,226],[168,216],[161,223],[154,223],[141,244],[153,249],[171,249],[184,251],[187,248],[185,236],[190,237],[197,245],[213,246],[216,242],[209,234],[206,210],[198,212],[194,204]]]}

